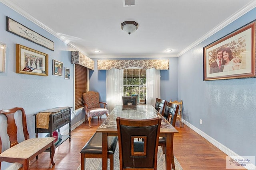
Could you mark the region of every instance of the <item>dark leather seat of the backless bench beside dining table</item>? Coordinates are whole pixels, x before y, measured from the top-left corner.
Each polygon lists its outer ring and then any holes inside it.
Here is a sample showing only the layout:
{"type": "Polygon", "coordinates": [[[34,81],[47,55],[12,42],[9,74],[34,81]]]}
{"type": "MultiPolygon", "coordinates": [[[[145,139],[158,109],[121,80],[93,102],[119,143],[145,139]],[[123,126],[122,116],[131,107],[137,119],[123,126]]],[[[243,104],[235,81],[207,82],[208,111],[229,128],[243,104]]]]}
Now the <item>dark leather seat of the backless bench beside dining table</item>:
{"type": "MultiPolygon", "coordinates": [[[[114,154],[118,137],[108,137],[108,154],[114,154]]],[[[81,153],[102,154],[102,133],[94,133],[84,145],[81,153]]]]}

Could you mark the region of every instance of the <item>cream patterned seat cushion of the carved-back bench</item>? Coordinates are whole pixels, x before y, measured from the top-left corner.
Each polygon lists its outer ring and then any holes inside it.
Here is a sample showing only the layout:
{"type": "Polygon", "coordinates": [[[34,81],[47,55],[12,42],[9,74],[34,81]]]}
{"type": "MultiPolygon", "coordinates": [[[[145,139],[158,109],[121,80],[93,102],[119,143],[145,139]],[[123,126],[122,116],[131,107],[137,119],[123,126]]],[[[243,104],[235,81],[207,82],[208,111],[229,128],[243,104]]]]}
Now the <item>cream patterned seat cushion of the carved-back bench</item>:
{"type": "Polygon", "coordinates": [[[0,157],[28,159],[54,140],[54,137],[27,139],[5,150],[0,154],[0,157]]]}

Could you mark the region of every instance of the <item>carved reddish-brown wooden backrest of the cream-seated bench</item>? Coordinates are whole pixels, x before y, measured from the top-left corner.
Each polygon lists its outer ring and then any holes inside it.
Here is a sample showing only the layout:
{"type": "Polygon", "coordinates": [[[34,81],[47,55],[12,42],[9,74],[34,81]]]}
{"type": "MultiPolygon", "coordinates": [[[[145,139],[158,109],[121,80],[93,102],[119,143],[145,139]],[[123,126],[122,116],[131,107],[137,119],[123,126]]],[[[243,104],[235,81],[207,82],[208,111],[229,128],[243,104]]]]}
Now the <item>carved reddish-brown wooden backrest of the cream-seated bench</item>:
{"type": "MultiPolygon", "coordinates": [[[[29,139],[28,129],[27,129],[27,121],[26,121],[26,114],[23,108],[21,107],[14,107],[8,110],[0,110],[0,115],[5,115],[7,118],[7,135],[9,136],[10,147],[18,144],[18,127],[21,125],[17,125],[20,121],[16,119],[21,119],[22,127],[23,127],[23,135],[24,140],[29,139]],[[17,114],[17,115],[16,115],[17,114]],[[17,117],[16,119],[14,118],[17,117]],[[16,124],[17,123],[17,124],[16,124]]],[[[20,137],[20,136],[19,136],[20,137]]],[[[0,137],[1,141],[1,137],[0,137]]],[[[2,142],[0,143],[0,153],[2,151],[2,142]]]]}

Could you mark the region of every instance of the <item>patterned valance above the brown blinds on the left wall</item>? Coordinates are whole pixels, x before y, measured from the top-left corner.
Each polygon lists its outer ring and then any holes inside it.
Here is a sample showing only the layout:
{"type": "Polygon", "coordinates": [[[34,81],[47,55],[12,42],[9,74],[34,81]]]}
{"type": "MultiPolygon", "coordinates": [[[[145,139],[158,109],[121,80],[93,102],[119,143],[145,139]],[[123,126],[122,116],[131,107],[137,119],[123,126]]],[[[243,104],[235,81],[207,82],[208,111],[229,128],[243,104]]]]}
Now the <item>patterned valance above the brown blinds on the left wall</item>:
{"type": "Polygon", "coordinates": [[[90,70],[94,70],[94,61],[79,51],[71,51],[71,63],[80,64],[90,70]]]}

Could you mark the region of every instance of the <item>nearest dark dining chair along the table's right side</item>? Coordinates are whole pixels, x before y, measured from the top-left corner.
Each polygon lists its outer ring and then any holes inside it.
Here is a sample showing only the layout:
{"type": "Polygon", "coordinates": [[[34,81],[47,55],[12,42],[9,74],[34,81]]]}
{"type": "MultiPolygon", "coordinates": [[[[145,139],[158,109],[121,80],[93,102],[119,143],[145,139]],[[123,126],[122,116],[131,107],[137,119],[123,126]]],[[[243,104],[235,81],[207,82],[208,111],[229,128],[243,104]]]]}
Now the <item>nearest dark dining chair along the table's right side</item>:
{"type": "MultiPolygon", "coordinates": [[[[173,127],[175,127],[176,118],[179,111],[179,105],[166,102],[166,106],[164,109],[164,117],[171,123],[173,127]]],[[[166,137],[159,137],[158,145],[162,147],[163,153],[166,152],[166,137]]],[[[172,135],[172,169],[175,169],[174,164],[174,152],[173,152],[173,135],[172,135]]]]}

